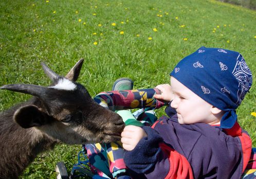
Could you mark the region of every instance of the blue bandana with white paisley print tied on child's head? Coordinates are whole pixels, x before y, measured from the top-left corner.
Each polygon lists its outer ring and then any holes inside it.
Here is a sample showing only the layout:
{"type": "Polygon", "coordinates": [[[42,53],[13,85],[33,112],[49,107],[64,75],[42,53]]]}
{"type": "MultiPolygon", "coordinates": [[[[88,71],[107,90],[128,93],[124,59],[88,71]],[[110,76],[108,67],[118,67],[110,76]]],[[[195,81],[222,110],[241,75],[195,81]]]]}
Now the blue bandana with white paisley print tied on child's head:
{"type": "Polygon", "coordinates": [[[243,56],[225,49],[201,47],[182,59],[170,73],[196,95],[226,111],[221,128],[237,120],[235,109],[252,84],[252,75],[243,56]]]}

